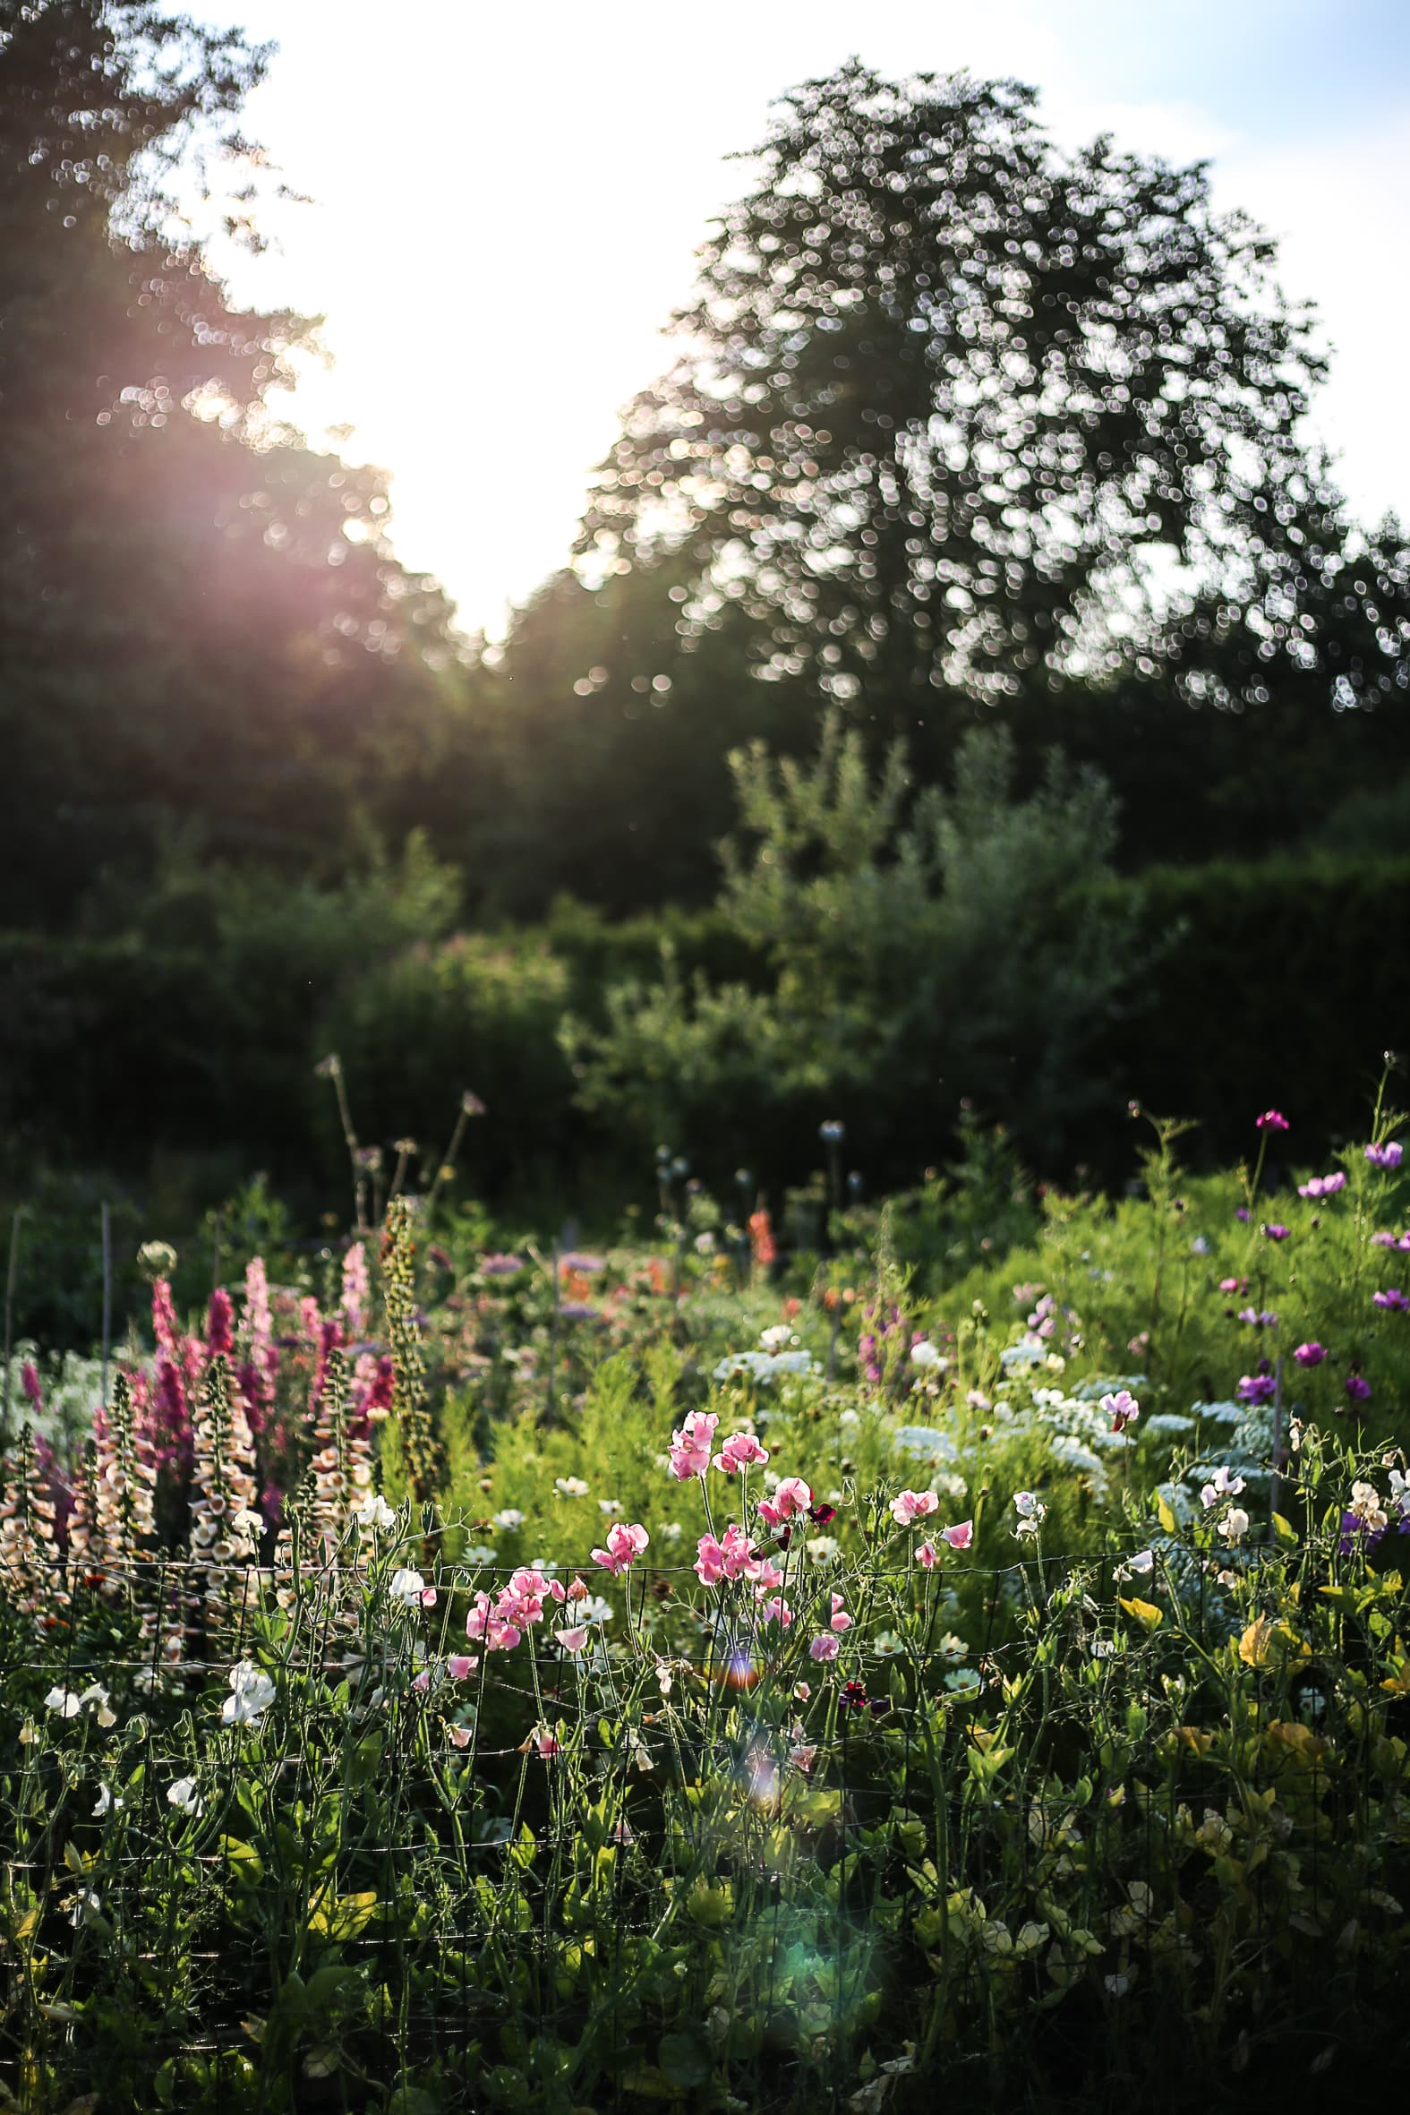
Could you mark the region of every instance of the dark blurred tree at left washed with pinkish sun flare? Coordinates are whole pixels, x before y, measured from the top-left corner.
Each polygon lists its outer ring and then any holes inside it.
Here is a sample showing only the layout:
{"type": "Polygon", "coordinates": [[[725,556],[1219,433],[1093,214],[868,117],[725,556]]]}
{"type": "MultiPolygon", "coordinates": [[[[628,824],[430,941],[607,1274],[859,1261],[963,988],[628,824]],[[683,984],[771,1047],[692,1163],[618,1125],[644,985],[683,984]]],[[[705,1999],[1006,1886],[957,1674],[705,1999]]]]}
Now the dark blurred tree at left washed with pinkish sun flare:
{"type": "Polygon", "coordinates": [[[150,0],[0,0],[4,916],[173,823],[307,865],[444,721],[450,607],[385,478],[266,408],[304,317],[235,309],[197,173],[258,239],[235,114],[266,53],[150,0]]]}

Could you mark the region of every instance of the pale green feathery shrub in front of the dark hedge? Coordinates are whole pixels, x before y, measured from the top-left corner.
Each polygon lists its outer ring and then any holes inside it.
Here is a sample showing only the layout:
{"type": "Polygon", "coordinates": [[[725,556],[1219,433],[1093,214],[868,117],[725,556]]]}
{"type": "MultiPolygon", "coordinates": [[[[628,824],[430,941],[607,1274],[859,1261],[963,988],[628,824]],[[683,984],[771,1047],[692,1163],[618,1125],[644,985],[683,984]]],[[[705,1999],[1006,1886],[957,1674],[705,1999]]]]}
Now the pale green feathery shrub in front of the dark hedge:
{"type": "Polygon", "coordinates": [[[1137,962],[1137,899],[1091,890],[1114,842],[1093,774],[1053,757],[1015,799],[1013,744],[975,732],[953,793],[907,812],[903,749],[873,776],[837,717],[816,764],[755,749],[734,772],[748,850],[725,846],[719,912],[772,990],[687,988],[666,952],[655,988],[609,994],[605,1032],[569,1030],[586,1106],[700,1151],[750,1102],[841,1108],[886,1144],[934,1136],[941,1089],[1051,1142],[1101,1102],[1091,1053],[1137,962]]]}

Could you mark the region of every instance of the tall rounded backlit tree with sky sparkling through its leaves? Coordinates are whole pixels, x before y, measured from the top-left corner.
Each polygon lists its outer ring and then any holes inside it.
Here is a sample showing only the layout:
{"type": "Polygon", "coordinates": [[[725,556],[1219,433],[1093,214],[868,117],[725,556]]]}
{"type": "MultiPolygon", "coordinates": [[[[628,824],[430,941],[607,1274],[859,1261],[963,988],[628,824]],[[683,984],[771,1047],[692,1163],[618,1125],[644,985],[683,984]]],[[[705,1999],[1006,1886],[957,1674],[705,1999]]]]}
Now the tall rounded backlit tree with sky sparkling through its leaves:
{"type": "Polygon", "coordinates": [[[1032,89],[858,63],[789,93],[759,163],[583,554],[670,552],[767,673],[909,728],[934,689],[1139,675],[1171,607],[1270,573],[1321,364],[1203,165],[1063,154],[1032,89]]]}

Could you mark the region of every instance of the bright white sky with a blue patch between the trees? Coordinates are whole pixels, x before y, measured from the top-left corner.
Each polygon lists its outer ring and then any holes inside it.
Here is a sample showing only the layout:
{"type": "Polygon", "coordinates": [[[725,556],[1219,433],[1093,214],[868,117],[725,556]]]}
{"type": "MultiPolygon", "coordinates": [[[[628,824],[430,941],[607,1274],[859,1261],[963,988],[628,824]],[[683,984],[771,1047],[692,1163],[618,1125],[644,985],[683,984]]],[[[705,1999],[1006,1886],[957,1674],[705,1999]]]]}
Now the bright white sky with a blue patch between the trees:
{"type": "Polygon", "coordinates": [[[562,565],[617,408],[664,366],[710,214],[780,89],[1015,74],[1063,142],[1211,157],[1334,349],[1315,431],[1410,514],[1410,0],[201,0],[275,38],[247,129],[313,205],[237,292],[326,317],[296,417],[393,472],[395,546],[465,628],[562,565]]]}

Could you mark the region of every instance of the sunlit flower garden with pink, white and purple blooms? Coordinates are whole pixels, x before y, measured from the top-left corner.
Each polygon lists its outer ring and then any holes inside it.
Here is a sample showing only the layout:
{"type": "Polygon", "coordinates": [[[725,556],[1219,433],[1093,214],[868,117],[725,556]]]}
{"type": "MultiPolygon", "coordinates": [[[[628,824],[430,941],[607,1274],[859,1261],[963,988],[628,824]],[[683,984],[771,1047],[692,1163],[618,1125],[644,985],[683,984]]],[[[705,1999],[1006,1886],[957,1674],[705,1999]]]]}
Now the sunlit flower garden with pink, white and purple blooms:
{"type": "Polygon", "coordinates": [[[8,2104],[1389,2083],[1399,1119],[1125,1121],[1118,1203],[975,1127],[879,1206],[827,1123],[793,1229],[662,1151],[600,1252],[359,1148],[317,1254],[15,1347],[8,2104]]]}

